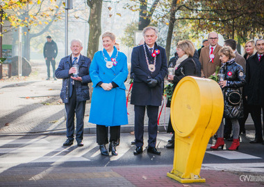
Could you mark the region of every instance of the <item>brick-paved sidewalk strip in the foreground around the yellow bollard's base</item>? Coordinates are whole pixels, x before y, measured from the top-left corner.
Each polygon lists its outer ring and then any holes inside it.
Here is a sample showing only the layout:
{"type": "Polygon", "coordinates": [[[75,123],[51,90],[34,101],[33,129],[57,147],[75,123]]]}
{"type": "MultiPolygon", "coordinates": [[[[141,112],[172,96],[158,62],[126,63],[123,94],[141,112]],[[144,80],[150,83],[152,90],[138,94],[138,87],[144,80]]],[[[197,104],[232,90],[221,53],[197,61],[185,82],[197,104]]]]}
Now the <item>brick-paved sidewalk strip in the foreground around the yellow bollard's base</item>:
{"type": "MultiPolygon", "coordinates": [[[[10,168],[1,172],[0,186],[214,186],[248,187],[263,186],[264,181],[247,181],[245,176],[261,176],[240,172],[201,170],[206,183],[180,184],[167,177],[172,166],[129,166],[129,167],[55,167],[10,168]]],[[[262,175],[262,177],[264,177],[262,175]]]]}

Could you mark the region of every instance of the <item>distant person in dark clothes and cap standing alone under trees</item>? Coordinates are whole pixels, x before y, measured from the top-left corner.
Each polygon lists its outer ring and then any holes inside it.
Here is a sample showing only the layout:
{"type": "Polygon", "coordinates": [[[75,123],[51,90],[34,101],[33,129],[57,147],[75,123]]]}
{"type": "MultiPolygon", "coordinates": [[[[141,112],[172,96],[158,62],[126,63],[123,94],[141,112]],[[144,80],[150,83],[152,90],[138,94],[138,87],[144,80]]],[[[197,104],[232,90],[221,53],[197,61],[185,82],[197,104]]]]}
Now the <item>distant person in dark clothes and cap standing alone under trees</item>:
{"type": "Polygon", "coordinates": [[[44,48],[43,48],[43,55],[47,65],[47,74],[48,74],[47,80],[49,80],[49,78],[51,77],[50,68],[49,68],[50,64],[52,66],[53,79],[57,80],[55,77],[55,65],[56,65],[55,58],[58,55],[58,47],[56,42],[54,42],[53,39],[51,39],[51,36],[47,36],[47,42],[44,44],[44,48]]]}

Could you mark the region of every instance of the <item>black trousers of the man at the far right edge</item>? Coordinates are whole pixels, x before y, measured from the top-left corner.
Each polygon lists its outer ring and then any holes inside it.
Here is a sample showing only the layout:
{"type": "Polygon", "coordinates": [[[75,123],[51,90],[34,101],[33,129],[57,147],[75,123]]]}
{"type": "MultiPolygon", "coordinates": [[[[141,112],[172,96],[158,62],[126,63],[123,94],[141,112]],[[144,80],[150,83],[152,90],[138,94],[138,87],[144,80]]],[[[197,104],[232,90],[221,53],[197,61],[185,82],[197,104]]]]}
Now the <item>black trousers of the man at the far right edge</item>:
{"type": "MultiPolygon", "coordinates": [[[[254,126],[255,126],[255,139],[256,140],[263,140],[263,134],[264,134],[264,131],[262,134],[262,126],[261,126],[261,109],[263,111],[264,106],[250,105],[251,117],[252,117],[252,120],[254,121],[254,126]]],[[[262,120],[264,121],[264,116],[262,120]]]]}

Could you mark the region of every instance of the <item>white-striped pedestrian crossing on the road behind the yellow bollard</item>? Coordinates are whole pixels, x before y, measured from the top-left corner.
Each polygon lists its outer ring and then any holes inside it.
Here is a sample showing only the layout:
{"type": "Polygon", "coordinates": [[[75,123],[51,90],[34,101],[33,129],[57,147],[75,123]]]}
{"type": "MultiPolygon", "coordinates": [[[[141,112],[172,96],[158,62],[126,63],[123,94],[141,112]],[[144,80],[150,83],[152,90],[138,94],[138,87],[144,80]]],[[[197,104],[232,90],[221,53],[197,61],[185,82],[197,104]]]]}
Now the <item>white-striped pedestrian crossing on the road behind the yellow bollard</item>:
{"type": "MultiPolygon", "coordinates": [[[[48,136],[39,136],[40,138],[33,139],[19,139],[15,136],[13,138],[6,137],[0,139],[0,168],[3,168],[6,164],[11,164],[13,166],[21,163],[65,163],[71,161],[95,161],[101,159],[101,153],[99,151],[99,146],[95,143],[95,139],[92,142],[86,143],[83,147],[78,147],[77,145],[72,145],[70,147],[63,147],[61,141],[58,139],[48,136]]],[[[167,134],[159,134],[157,141],[157,148],[161,152],[167,151],[169,154],[173,155],[173,150],[167,150],[165,145],[169,136],[167,134]],[[165,149],[165,150],[162,150],[165,149]]],[[[127,140],[129,141],[129,140],[127,140]]],[[[227,160],[256,160],[256,162],[261,162],[261,157],[256,157],[254,155],[242,153],[242,152],[230,152],[227,150],[222,151],[211,151],[210,144],[208,144],[206,154],[221,157],[227,160]],[[260,160],[260,161],[258,161],[260,160]]],[[[144,147],[144,150],[146,148],[144,147]]],[[[108,163],[110,161],[121,160],[122,157],[135,158],[133,156],[134,147],[129,143],[123,142],[119,147],[117,147],[118,155],[115,157],[108,157],[108,163]]],[[[143,152],[144,152],[143,150],[143,152]]],[[[162,154],[163,155],[163,154],[162,154]]],[[[162,157],[162,155],[160,157],[162,157]]],[[[144,155],[143,155],[144,156],[144,155]]],[[[173,156],[172,156],[173,157],[173,156]]],[[[106,159],[106,157],[104,157],[106,159]]],[[[124,162],[124,161],[123,161],[124,162]]],[[[162,163],[160,163],[162,164],[162,163]]],[[[264,163],[258,163],[256,166],[263,167],[264,163]]],[[[217,163],[217,164],[203,164],[205,168],[212,167],[229,167],[229,163],[217,163]],[[220,164],[220,166],[218,166],[220,164]]],[[[236,166],[238,166],[236,164],[236,166]]],[[[253,167],[254,165],[250,165],[253,167]]],[[[217,168],[216,167],[216,168],[217,168]]],[[[233,168],[230,165],[229,168],[233,168]]]]}

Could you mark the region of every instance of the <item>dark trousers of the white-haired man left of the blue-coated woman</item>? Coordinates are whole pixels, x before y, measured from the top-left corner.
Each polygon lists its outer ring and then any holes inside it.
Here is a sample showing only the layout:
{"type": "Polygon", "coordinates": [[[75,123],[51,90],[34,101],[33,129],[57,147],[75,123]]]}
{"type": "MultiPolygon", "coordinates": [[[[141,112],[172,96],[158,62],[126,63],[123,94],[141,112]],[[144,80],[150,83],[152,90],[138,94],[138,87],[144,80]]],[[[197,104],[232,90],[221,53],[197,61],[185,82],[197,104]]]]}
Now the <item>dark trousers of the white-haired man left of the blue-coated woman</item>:
{"type": "Polygon", "coordinates": [[[76,88],[73,86],[72,96],[69,98],[69,103],[65,103],[68,139],[74,139],[74,114],[76,114],[76,139],[83,139],[83,118],[85,112],[85,103],[86,100],[76,100],[76,88]]]}

